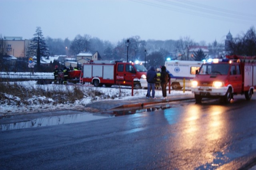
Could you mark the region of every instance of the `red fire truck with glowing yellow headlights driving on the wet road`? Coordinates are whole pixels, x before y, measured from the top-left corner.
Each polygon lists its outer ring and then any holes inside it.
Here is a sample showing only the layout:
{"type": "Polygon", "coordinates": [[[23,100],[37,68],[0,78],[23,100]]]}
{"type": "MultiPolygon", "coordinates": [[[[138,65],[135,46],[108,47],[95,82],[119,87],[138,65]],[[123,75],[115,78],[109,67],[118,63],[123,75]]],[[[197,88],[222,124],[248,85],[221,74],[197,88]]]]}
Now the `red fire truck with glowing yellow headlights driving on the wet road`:
{"type": "Polygon", "coordinates": [[[202,64],[192,81],[191,91],[196,103],[202,98],[220,98],[220,102],[230,103],[233,95],[245,95],[250,100],[256,88],[256,56],[226,56],[202,64]]]}

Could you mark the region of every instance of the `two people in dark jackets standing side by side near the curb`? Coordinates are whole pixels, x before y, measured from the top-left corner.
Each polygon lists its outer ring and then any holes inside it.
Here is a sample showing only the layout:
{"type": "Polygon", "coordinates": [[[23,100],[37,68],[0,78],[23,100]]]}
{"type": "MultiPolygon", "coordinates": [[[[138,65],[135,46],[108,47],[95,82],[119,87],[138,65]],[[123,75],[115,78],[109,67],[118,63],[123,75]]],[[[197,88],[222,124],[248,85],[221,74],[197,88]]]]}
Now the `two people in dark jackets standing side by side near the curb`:
{"type": "Polygon", "coordinates": [[[152,98],[156,99],[155,83],[156,83],[157,79],[160,77],[160,85],[161,85],[161,89],[162,89],[162,95],[163,95],[163,98],[166,99],[166,97],[167,97],[166,87],[167,87],[167,83],[170,81],[170,75],[169,75],[168,71],[166,70],[166,67],[162,66],[161,72],[157,73],[155,68],[152,66],[149,68],[146,77],[147,77],[147,82],[148,82],[148,93],[147,93],[146,97],[150,98],[150,92],[152,91],[152,98]]]}

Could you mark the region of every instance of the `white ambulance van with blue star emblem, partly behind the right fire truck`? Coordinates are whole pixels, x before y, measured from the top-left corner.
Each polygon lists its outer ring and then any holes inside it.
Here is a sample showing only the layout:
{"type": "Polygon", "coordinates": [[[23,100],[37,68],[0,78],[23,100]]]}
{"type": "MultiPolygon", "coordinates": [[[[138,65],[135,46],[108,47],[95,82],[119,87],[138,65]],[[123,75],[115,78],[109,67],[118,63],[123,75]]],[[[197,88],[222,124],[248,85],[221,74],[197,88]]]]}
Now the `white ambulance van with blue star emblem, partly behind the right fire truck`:
{"type": "Polygon", "coordinates": [[[196,76],[196,70],[199,70],[203,61],[165,61],[165,67],[171,76],[172,89],[182,89],[183,79],[185,78],[185,88],[191,87],[191,82],[196,76]]]}

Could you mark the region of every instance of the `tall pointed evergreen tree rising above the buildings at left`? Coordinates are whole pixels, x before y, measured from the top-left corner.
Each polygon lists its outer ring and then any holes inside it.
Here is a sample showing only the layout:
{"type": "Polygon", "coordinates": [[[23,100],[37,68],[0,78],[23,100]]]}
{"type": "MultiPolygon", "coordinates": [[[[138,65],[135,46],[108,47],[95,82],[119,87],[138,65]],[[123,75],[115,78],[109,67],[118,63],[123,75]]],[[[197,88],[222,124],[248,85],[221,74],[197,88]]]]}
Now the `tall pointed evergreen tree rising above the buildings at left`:
{"type": "Polygon", "coordinates": [[[36,27],[36,33],[34,34],[34,38],[32,38],[28,47],[28,55],[29,57],[36,55],[36,64],[38,71],[40,70],[41,57],[49,56],[48,47],[46,46],[46,41],[44,40],[41,27],[36,27]]]}

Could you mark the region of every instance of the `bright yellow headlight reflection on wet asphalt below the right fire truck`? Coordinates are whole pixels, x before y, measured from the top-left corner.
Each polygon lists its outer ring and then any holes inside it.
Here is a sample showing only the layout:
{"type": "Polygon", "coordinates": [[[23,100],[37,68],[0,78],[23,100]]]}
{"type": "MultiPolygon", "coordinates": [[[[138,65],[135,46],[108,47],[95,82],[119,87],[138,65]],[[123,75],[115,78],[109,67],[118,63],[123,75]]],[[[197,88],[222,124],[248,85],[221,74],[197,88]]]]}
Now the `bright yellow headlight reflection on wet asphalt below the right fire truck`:
{"type": "Polygon", "coordinates": [[[174,158],[176,167],[183,164],[198,166],[199,169],[215,169],[227,161],[223,150],[220,150],[222,139],[228,135],[228,122],[224,113],[227,107],[220,105],[188,105],[167,109],[164,117],[171,126],[169,130],[176,133],[175,138],[169,138],[166,149],[170,154],[177,153],[174,158]],[[182,110],[184,109],[184,110],[182,110]],[[177,124],[175,124],[177,122],[177,124]],[[200,166],[200,165],[204,166],[200,166]]]}

